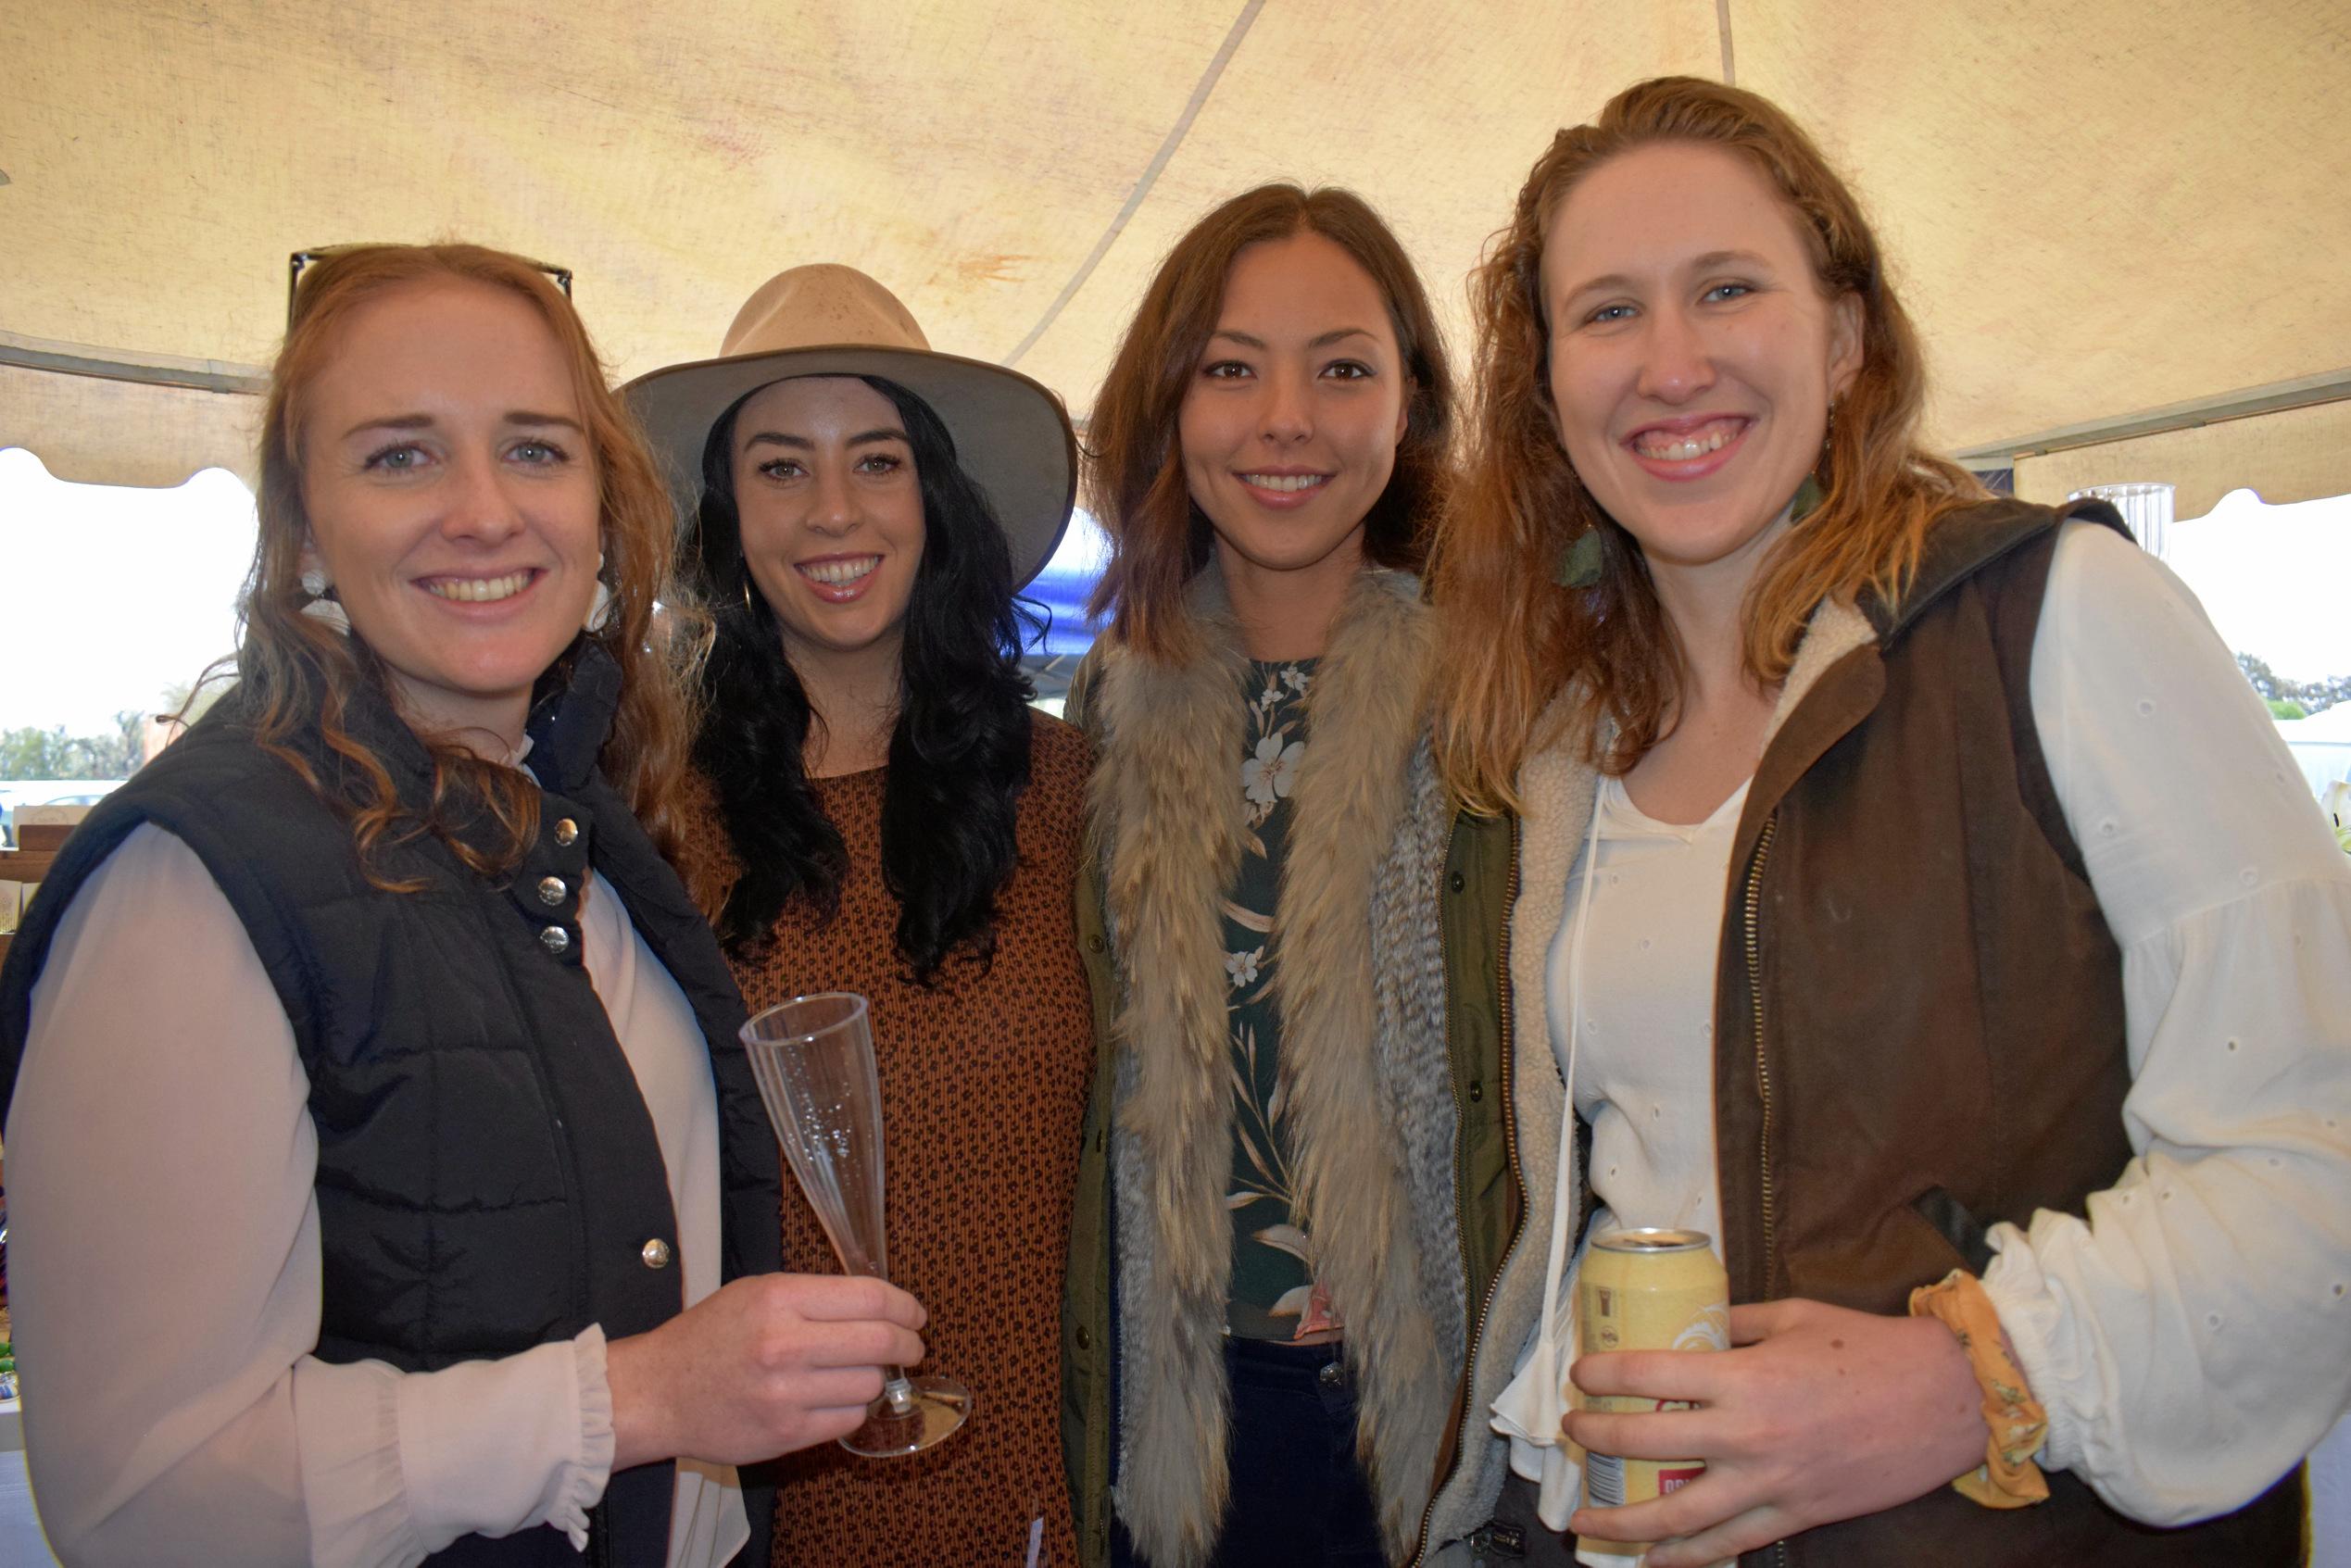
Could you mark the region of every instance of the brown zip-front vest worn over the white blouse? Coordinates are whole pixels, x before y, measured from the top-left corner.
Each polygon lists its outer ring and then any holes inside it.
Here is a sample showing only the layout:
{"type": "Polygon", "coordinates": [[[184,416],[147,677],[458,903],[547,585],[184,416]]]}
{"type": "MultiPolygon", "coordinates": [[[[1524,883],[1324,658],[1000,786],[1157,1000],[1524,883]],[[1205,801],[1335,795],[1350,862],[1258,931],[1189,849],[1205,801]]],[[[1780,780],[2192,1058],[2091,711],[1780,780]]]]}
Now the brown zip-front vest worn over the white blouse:
{"type": "MultiPolygon", "coordinates": [[[[2130,1161],[2123,966],[2041,755],[2031,649],[2062,512],[1994,501],[1928,534],[1878,639],[1803,696],[1733,849],[1714,1100],[1730,1300],[1904,1312],[1984,1232],[2083,1213],[2130,1161]]],[[[2064,515],[2121,527],[2099,503],[2064,515]]],[[[1951,1488],[1749,1568],[2302,1563],[2302,1472],[2182,1530],[2071,1474],[1994,1512],[1951,1488]]]]}

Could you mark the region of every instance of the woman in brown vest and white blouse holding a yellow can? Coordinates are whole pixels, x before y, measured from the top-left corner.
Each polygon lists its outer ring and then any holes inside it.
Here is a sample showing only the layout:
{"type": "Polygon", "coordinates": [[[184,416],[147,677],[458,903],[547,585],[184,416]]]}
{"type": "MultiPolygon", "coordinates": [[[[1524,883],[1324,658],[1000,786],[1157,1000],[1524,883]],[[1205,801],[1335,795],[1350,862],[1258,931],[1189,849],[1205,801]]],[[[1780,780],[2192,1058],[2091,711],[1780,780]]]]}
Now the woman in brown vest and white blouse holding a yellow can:
{"type": "Polygon", "coordinates": [[[1549,1288],[1498,1403],[1545,1519],[1655,1568],[2295,1561],[2351,867],[2229,654],[2111,510],[1918,447],[1878,242],[1754,94],[1561,132],[1474,299],[1436,745],[1521,820],[1514,1027],[1589,1126],[1531,1150],[1549,1269],[1688,1227],[1737,1302],[1726,1352],[1575,1359],[1549,1288]],[[1563,1410],[1570,1361],[1679,1408],[1563,1410]],[[1561,1418],[1704,1472],[1570,1519],[1561,1418]]]}

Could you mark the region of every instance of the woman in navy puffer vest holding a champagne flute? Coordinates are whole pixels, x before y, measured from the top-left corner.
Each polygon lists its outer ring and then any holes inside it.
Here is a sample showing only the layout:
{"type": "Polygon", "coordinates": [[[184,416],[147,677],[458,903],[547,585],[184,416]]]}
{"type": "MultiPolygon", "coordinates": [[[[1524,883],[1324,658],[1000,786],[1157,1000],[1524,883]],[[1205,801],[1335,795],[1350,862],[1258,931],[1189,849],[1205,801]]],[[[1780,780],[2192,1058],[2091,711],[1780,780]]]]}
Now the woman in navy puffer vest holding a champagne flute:
{"type": "Polygon", "coordinates": [[[534,263],[303,261],[240,682],[0,971],[42,1523],[75,1566],[724,1563],[769,1523],[734,1467],[856,1427],[922,1309],[771,1272],[743,1004],[663,858],[668,498],[534,263]]]}

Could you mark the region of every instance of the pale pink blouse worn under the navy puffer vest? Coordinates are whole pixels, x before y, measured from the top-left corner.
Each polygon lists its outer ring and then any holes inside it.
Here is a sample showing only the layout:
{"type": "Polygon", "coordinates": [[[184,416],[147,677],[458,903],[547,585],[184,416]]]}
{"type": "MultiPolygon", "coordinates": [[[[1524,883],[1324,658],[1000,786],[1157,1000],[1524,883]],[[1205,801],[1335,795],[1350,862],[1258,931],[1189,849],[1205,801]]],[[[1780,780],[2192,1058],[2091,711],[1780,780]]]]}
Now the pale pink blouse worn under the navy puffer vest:
{"type": "MultiPolygon", "coordinates": [[[[602,877],[583,964],[644,1093],[684,1298],[719,1286],[701,1027],[602,877]]],[[[611,1474],[604,1335],[400,1373],[329,1366],[317,1133],[268,973],[202,860],[132,832],[33,987],[7,1121],[26,1462],[59,1559],[418,1563],[541,1523],[585,1542],[611,1474]]],[[[677,1467],[672,1568],[745,1540],[731,1467],[677,1467]]]]}

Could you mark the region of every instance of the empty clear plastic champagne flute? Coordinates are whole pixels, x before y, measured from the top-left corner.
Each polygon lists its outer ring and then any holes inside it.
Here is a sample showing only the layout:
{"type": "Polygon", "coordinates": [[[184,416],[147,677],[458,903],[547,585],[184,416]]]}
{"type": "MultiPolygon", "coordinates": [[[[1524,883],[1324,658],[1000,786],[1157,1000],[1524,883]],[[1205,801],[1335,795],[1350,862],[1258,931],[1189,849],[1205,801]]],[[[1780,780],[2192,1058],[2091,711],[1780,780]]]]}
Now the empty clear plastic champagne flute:
{"type": "MultiPolygon", "coordinates": [[[[865,997],[792,997],[743,1025],[759,1098],[809,1206],[851,1274],[889,1279],[882,1237],[882,1079],[865,997]]],[[[849,1453],[919,1453],[964,1425],[971,1389],[936,1373],[884,1366],[882,1396],[842,1439],[849,1453]]]]}

